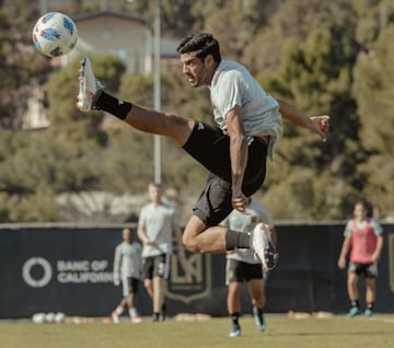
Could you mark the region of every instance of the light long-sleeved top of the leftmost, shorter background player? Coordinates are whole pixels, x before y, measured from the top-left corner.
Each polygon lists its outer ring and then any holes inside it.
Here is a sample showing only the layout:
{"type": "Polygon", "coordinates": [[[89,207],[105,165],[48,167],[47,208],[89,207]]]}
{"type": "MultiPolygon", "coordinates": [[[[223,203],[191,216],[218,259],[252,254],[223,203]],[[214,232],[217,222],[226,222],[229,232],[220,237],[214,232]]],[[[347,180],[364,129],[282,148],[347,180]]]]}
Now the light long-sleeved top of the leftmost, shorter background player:
{"type": "Polygon", "coordinates": [[[139,243],[121,242],[115,248],[114,279],[127,277],[140,278],[141,245],[139,243]]]}

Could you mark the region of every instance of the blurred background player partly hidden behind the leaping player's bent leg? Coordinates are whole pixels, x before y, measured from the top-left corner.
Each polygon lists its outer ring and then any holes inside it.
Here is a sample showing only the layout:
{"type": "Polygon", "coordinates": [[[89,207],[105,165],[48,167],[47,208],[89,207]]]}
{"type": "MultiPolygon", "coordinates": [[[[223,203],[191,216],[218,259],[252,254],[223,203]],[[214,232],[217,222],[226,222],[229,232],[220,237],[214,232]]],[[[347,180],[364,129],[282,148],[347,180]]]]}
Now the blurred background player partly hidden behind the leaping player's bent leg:
{"type": "MultiPolygon", "coordinates": [[[[233,210],[222,222],[223,225],[247,233],[253,230],[254,225],[263,221],[270,227],[273,234],[273,242],[276,245],[276,230],[274,221],[268,209],[257,200],[248,199],[246,213],[241,213],[233,210]]],[[[241,315],[241,291],[242,283],[247,282],[248,293],[253,308],[253,315],[256,323],[256,328],[264,332],[266,322],[263,314],[263,309],[266,303],[264,279],[267,272],[264,272],[262,262],[254,257],[253,251],[248,248],[239,248],[227,254],[225,266],[225,282],[228,286],[228,312],[232,322],[232,330],[230,337],[241,336],[241,325],[239,317],[241,315]]]]}

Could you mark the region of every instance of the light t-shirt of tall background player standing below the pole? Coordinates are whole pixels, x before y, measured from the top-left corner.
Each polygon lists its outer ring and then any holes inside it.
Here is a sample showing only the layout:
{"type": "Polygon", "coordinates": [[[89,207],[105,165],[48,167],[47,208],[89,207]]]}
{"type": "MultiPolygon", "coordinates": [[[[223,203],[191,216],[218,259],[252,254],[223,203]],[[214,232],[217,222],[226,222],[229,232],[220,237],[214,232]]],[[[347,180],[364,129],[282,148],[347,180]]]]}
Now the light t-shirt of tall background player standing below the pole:
{"type": "Polygon", "coordinates": [[[173,250],[173,227],[176,225],[174,207],[162,204],[148,204],[142,207],[138,225],[143,227],[153,245],[143,245],[142,257],[171,254],[173,250]]]}

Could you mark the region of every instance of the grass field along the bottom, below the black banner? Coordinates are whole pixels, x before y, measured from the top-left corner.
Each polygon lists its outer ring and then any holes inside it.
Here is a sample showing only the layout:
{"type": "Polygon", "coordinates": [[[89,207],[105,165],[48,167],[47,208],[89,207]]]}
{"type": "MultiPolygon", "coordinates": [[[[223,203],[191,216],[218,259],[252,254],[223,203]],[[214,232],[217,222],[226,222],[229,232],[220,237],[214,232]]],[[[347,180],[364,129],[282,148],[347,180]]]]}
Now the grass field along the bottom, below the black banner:
{"type": "Polygon", "coordinates": [[[242,317],[242,337],[229,338],[230,321],[141,324],[31,324],[27,321],[0,322],[1,348],[392,348],[394,314],[371,318],[344,316],[290,320],[266,315],[267,329],[258,333],[252,317],[242,317]]]}

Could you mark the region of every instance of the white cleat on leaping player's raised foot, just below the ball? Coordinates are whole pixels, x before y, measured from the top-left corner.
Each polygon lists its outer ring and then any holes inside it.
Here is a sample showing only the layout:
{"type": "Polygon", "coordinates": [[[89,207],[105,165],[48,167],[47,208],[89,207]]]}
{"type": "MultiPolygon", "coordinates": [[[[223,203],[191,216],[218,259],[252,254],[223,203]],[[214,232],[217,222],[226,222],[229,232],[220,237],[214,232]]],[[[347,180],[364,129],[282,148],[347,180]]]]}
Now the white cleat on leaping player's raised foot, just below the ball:
{"type": "Polygon", "coordinates": [[[89,112],[95,108],[95,101],[103,91],[103,85],[94,77],[92,65],[88,57],[81,60],[79,69],[80,90],[78,93],[77,107],[82,112],[89,112]]]}

